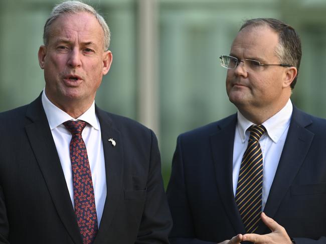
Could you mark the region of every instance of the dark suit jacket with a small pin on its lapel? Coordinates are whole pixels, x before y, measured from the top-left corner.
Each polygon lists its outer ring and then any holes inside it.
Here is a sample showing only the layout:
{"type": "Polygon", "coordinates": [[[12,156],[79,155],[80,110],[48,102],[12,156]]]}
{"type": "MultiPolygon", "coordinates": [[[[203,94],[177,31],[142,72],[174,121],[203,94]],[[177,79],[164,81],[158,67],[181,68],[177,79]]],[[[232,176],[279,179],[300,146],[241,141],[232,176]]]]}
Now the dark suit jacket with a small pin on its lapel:
{"type": "MultiPolygon", "coordinates": [[[[107,196],[94,243],[168,243],[172,220],[154,133],[97,107],[96,114],[107,196]]],[[[0,125],[0,243],[81,244],[41,97],[0,113],[0,125]]]]}

